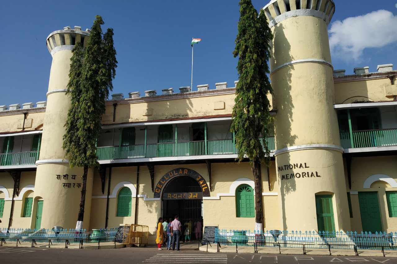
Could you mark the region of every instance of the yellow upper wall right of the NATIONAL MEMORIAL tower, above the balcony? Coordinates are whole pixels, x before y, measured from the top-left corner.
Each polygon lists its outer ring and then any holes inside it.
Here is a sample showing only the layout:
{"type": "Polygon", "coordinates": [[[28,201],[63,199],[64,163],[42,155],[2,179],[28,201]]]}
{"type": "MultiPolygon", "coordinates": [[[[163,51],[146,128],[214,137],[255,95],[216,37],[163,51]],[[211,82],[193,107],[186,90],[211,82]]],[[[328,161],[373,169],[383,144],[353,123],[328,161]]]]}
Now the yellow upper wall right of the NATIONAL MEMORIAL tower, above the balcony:
{"type": "Polygon", "coordinates": [[[385,96],[385,85],[390,84],[389,78],[335,83],[335,103],[393,101],[385,96]]]}

